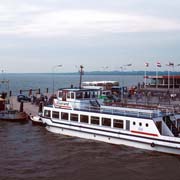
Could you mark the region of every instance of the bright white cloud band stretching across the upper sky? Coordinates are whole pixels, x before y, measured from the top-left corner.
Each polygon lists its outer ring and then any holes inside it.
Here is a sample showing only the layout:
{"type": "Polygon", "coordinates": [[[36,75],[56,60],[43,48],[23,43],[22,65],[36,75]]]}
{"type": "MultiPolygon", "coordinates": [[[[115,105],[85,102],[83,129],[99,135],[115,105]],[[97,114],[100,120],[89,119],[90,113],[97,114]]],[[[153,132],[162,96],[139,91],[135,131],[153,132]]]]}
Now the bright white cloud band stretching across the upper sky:
{"type": "Polygon", "coordinates": [[[17,9],[1,6],[0,35],[79,37],[102,33],[180,30],[180,22],[153,16],[91,9],[46,8],[27,4],[21,4],[17,9]]]}

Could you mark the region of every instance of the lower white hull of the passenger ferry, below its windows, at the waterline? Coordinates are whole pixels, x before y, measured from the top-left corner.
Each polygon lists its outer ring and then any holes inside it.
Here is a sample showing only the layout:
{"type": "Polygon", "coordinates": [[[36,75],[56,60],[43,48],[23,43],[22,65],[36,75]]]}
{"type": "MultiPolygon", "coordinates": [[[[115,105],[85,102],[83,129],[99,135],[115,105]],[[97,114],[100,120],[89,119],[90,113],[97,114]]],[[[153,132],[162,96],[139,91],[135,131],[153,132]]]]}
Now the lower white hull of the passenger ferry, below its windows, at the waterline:
{"type": "Polygon", "coordinates": [[[46,124],[46,129],[52,133],[180,155],[179,144],[173,144],[170,146],[168,143],[156,140],[147,140],[144,137],[132,138],[130,134],[121,135],[120,133],[102,133],[98,130],[88,130],[86,127],[82,126],[73,127],[71,124],[60,125],[52,123],[51,120],[43,120],[43,122],[46,124]]]}

